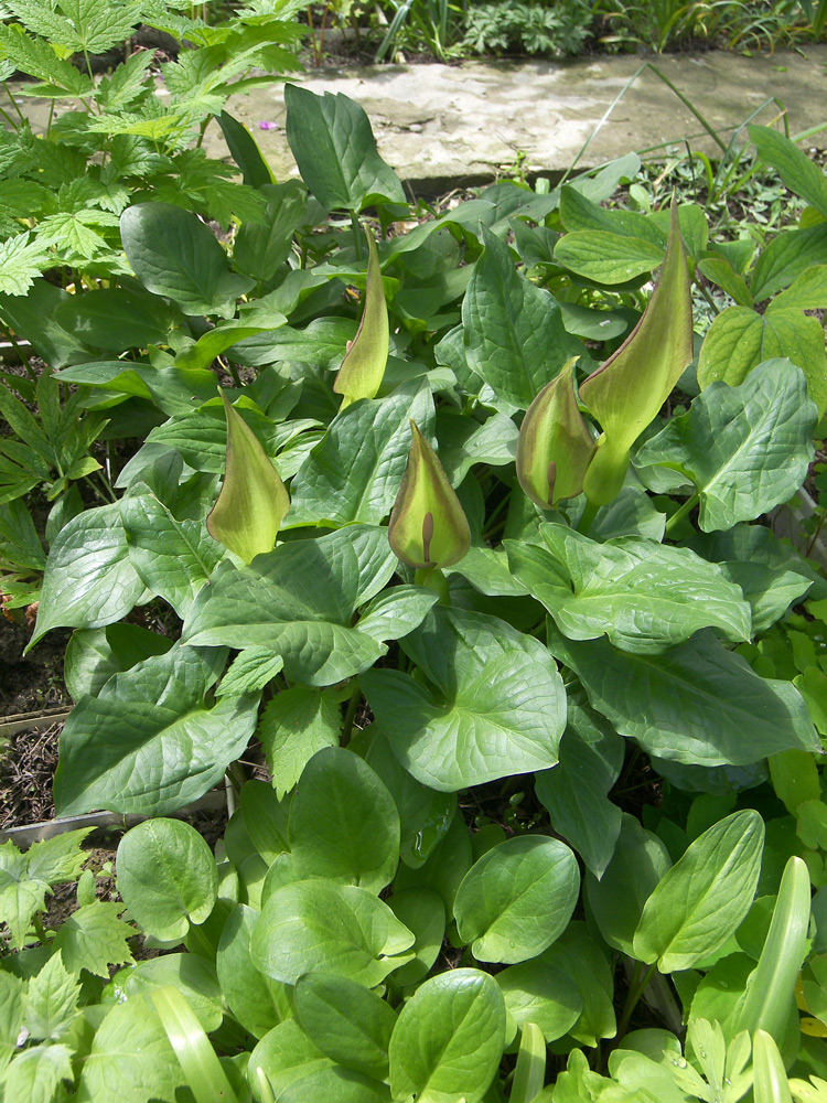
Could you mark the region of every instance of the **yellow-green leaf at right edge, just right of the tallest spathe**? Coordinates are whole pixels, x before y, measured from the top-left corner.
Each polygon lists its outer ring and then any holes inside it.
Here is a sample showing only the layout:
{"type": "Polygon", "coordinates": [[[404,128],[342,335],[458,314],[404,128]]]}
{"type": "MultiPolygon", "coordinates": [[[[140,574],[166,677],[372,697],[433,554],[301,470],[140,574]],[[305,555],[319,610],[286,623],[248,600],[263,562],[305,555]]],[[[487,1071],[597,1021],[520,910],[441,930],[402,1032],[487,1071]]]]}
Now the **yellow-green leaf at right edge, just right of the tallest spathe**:
{"type": "Polygon", "coordinates": [[[734,387],[759,364],[783,357],[804,372],[809,397],[823,415],[827,409],[824,330],[817,318],[795,307],[778,306],[763,314],[749,307],[722,310],[704,339],[698,383],[701,389],[716,381],[734,387]]]}

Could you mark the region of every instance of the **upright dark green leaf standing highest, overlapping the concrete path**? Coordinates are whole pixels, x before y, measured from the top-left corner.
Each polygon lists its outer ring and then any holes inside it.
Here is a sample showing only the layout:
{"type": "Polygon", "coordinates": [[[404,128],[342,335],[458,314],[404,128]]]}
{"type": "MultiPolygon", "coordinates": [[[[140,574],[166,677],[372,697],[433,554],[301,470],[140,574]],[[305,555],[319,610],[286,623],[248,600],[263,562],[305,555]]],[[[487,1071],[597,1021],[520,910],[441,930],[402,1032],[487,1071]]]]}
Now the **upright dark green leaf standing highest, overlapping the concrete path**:
{"type": "Polygon", "coordinates": [[[394,170],[376,152],[364,110],[347,96],[284,86],[287,140],[301,178],[322,206],[361,211],[372,203],[405,203],[394,170]]]}

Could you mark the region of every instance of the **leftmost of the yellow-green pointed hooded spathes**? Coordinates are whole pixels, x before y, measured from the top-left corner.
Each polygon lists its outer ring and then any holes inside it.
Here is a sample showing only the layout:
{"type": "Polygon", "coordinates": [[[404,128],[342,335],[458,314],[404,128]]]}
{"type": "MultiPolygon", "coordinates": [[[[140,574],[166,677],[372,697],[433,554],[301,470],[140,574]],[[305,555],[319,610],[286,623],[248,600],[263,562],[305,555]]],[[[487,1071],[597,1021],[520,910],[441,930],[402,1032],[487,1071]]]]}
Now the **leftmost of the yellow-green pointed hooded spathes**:
{"type": "Polygon", "coordinates": [[[207,528],[214,539],[251,563],[276,546],[290,495],[256,435],[221,394],[227,415],[227,462],[207,528]]]}

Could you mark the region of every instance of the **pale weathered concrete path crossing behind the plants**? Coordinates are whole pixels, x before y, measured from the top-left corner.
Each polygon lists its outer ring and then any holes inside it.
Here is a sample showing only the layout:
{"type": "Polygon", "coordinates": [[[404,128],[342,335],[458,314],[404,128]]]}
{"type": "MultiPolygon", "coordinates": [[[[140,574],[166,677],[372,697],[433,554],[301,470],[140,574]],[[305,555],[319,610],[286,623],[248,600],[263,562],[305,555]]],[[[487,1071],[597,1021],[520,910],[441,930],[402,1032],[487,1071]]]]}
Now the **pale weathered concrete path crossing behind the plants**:
{"type": "MultiPolygon", "coordinates": [[[[415,192],[437,194],[492,180],[519,152],[526,154],[529,172],[563,172],[621,93],[589,144],[583,167],[687,137],[694,148],[716,152],[679,97],[652,68],[638,72],[646,61],[622,56],[370,66],[309,72],[302,83],[359,103],[385,160],[415,192]]],[[[716,51],[648,61],[724,141],[754,113],[754,121],[770,124],[786,110],[792,135],[827,122],[827,46],[808,46],[804,55],[742,57],[716,51]]],[[[278,179],[296,172],[280,86],[236,97],[228,109],[255,132],[278,179]],[[261,129],[261,122],[277,128],[261,129]]],[[[217,127],[208,135],[211,154],[224,157],[217,127]]],[[[827,130],[809,144],[827,148],[827,130]]]]}

